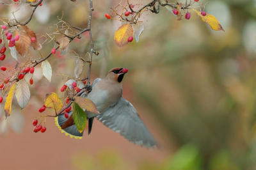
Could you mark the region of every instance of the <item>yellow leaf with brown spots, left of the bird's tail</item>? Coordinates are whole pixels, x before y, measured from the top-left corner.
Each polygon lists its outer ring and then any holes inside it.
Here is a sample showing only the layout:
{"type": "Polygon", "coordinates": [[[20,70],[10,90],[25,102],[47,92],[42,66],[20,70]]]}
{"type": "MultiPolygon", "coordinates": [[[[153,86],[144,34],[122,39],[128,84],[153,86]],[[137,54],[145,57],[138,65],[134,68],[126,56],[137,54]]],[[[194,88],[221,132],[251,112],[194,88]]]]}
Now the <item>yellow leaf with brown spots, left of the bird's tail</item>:
{"type": "Polygon", "coordinates": [[[63,104],[56,93],[47,94],[44,100],[45,107],[51,107],[56,112],[60,111],[63,104]]]}

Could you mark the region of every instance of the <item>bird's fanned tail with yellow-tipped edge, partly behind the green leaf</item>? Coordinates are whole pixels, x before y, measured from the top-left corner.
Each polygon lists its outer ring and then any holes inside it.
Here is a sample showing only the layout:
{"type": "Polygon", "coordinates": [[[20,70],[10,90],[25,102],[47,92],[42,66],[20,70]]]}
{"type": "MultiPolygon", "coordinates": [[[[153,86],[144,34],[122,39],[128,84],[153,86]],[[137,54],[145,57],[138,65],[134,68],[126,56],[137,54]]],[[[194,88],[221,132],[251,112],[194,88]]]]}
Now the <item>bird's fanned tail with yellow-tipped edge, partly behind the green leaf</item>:
{"type": "MultiPolygon", "coordinates": [[[[88,134],[92,132],[92,123],[93,119],[97,114],[92,114],[90,112],[86,112],[86,116],[88,119],[88,134]]],[[[64,114],[60,114],[55,118],[55,124],[58,128],[60,128],[61,133],[65,133],[65,135],[69,135],[71,138],[75,139],[82,139],[83,138],[83,132],[79,132],[76,124],[74,123],[73,114],[72,111],[68,112],[68,119],[65,118],[64,114]]]]}

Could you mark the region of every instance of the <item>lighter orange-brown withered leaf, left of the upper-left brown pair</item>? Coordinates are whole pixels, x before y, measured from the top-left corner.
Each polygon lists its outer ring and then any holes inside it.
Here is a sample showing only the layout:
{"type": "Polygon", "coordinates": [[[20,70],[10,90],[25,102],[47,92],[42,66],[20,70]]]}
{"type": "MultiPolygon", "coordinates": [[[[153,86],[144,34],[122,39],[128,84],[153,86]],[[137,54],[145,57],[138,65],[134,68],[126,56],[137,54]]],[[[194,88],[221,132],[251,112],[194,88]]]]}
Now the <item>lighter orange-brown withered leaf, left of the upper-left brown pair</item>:
{"type": "Polygon", "coordinates": [[[14,36],[17,35],[20,35],[20,39],[15,43],[15,47],[19,54],[23,57],[25,56],[26,52],[28,52],[31,45],[31,40],[26,31],[17,31],[17,29],[15,29],[14,36]]]}

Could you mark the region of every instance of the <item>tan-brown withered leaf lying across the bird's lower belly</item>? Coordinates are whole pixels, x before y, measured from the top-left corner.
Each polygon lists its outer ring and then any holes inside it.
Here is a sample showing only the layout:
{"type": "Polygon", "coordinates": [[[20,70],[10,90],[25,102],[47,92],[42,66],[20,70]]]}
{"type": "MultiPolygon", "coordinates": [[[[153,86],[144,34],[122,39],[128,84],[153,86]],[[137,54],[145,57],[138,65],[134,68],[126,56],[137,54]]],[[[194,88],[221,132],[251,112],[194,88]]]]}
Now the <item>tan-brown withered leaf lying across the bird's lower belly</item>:
{"type": "Polygon", "coordinates": [[[89,98],[75,97],[74,102],[76,102],[79,107],[85,109],[86,111],[92,112],[94,114],[100,114],[96,105],[89,98]]]}

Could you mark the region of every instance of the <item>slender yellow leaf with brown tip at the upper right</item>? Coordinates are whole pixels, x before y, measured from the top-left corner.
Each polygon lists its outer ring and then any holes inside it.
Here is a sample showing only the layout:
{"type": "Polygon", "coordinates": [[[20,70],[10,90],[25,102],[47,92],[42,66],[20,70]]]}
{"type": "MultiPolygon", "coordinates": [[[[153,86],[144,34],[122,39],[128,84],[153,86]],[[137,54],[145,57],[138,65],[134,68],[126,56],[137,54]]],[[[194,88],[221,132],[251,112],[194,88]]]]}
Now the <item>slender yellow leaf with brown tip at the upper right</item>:
{"type": "Polygon", "coordinates": [[[212,29],[214,29],[215,31],[224,31],[223,27],[221,26],[220,22],[218,22],[218,20],[211,14],[206,13],[205,16],[203,16],[201,14],[201,12],[198,12],[197,10],[193,9],[193,11],[195,11],[198,15],[200,15],[200,17],[202,18],[202,20],[204,22],[206,22],[207,24],[209,24],[211,26],[212,29]]]}

